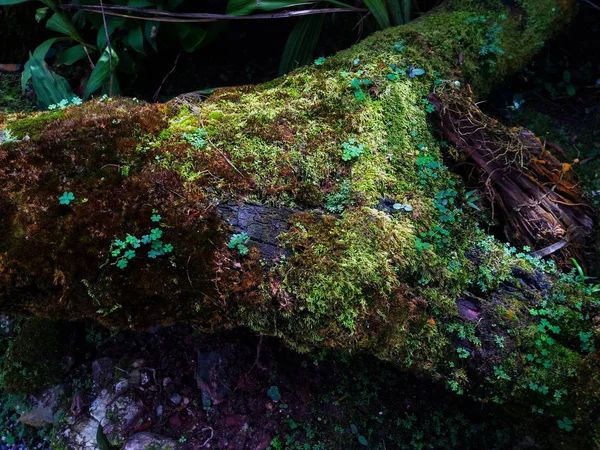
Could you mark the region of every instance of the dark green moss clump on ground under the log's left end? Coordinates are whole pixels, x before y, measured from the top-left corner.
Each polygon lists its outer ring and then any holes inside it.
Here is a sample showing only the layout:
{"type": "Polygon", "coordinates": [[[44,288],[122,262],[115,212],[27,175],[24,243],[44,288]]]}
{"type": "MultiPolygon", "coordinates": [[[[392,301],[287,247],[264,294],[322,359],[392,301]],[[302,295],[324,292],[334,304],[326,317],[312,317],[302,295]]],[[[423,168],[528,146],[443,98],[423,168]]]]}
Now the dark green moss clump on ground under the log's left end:
{"type": "Polygon", "coordinates": [[[32,394],[60,383],[58,332],[60,325],[46,319],[29,319],[2,364],[0,382],[11,394],[32,394]]]}

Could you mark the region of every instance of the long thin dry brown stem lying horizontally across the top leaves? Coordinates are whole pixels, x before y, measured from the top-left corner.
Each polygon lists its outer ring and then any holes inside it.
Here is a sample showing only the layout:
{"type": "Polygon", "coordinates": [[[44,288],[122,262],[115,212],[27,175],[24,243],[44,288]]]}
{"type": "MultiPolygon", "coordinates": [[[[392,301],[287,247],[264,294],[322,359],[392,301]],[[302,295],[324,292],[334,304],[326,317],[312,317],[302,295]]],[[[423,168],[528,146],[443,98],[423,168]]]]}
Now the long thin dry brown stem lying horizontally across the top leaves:
{"type": "Polygon", "coordinates": [[[158,9],[134,8],[128,6],[106,6],[98,7],[94,5],[60,5],[62,9],[73,9],[89,12],[101,12],[109,16],[126,17],[128,19],[153,20],[157,22],[218,22],[220,20],[257,20],[257,19],[285,19],[289,17],[300,17],[312,14],[330,14],[346,12],[368,12],[365,8],[320,8],[304,9],[300,11],[282,11],[270,14],[254,14],[251,16],[234,16],[230,14],[210,14],[210,13],[172,13],[158,9]],[[122,11],[122,12],[119,12],[122,11]],[[125,14],[134,12],[139,15],[125,14]],[[148,16],[148,17],[144,17],[148,16]]]}

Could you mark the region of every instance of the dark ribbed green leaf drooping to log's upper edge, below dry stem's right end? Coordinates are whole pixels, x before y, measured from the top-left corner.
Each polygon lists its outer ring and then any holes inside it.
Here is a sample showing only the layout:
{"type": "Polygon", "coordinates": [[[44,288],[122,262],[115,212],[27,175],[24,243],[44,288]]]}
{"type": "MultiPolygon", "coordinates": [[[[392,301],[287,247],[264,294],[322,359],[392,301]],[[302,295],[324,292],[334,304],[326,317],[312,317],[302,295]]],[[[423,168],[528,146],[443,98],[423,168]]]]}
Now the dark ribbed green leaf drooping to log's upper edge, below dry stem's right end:
{"type": "Polygon", "coordinates": [[[296,67],[304,66],[312,61],[324,17],[323,14],[318,14],[298,19],[285,43],[278,75],[286,74],[296,67]]]}

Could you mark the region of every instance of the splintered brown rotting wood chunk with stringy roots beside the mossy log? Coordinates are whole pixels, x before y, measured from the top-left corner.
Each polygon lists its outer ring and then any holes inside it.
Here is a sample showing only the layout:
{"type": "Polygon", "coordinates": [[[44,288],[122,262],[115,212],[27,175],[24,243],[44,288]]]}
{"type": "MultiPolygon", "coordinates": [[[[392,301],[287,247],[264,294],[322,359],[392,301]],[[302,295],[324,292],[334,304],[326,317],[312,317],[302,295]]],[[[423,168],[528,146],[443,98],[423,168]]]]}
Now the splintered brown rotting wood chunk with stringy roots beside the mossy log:
{"type": "Polygon", "coordinates": [[[557,254],[594,264],[596,211],[583,195],[571,164],[560,162],[525,128],[507,129],[486,117],[468,96],[430,94],[446,139],[481,174],[485,192],[505,218],[506,237],[533,254],[557,254]]]}

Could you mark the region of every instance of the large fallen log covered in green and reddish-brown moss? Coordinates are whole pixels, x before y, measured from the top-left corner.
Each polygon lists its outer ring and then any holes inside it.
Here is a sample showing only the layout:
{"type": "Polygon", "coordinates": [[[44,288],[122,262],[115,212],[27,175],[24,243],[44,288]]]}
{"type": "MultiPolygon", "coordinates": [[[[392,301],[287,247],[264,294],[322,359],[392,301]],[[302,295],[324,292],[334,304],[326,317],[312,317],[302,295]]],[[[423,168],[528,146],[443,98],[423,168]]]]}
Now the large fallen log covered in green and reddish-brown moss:
{"type": "MultiPolygon", "coordinates": [[[[243,326],[300,350],[369,352],[520,420],[569,417],[593,434],[597,294],[482,231],[443,159],[471,146],[444,144],[428,120],[446,117],[436,99],[467,101],[467,84],[482,95],[522,67],[574,6],[453,0],[204,101],[100,99],[4,117],[18,140],[0,148],[0,310],[243,326]]],[[[543,175],[524,156],[523,173],[543,175]]],[[[533,154],[546,156],[555,164],[533,154]]],[[[565,208],[588,242],[588,207],[565,208]]],[[[520,216],[505,210],[514,227],[520,216]]]]}

